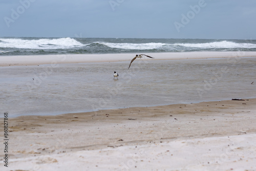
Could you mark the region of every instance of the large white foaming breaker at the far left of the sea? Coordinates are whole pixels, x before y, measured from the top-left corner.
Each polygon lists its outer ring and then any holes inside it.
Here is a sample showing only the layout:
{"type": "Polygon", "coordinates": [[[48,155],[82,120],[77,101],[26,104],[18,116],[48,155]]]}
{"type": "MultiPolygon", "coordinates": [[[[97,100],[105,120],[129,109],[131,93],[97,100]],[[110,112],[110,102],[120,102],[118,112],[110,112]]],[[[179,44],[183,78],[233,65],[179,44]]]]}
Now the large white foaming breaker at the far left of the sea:
{"type": "Polygon", "coordinates": [[[81,47],[79,41],[67,37],[67,38],[42,38],[42,39],[20,39],[20,38],[0,38],[1,48],[18,48],[18,49],[64,49],[81,47]]]}

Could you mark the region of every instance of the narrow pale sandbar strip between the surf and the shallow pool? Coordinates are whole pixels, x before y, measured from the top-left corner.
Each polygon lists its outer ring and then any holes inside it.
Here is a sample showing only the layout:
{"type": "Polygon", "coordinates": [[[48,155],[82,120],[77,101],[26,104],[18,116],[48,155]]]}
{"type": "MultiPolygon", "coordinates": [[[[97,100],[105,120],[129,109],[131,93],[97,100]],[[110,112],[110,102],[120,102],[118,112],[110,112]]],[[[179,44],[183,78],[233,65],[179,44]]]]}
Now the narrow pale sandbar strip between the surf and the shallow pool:
{"type": "MultiPolygon", "coordinates": [[[[171,60],[171,59],[207,59],[207,58],[233,58],[256,57],[256,52],[230,51],[230,52],[160,52],[146,53],[155,57],[144,60],[171,60]]],[[[135,53],[120,54],[63,54],[63,55],[23,55],[0,56],[0,67],[9,66],[36,66],[56,63],[86,63],[86,62],[117,62],[129,61],[135,53]]]]}

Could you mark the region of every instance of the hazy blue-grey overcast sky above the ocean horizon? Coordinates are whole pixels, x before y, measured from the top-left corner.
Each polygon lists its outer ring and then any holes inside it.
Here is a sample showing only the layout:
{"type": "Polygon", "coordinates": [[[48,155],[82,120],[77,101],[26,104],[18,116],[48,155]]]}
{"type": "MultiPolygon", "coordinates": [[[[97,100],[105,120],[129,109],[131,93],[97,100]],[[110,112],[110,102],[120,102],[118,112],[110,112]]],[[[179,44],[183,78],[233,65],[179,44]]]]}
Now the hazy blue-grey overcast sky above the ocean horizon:
{"type": "Polygon", "coordinates": [[[256,39],[255,0],[0,0],[0,37],[256,39]]]}

